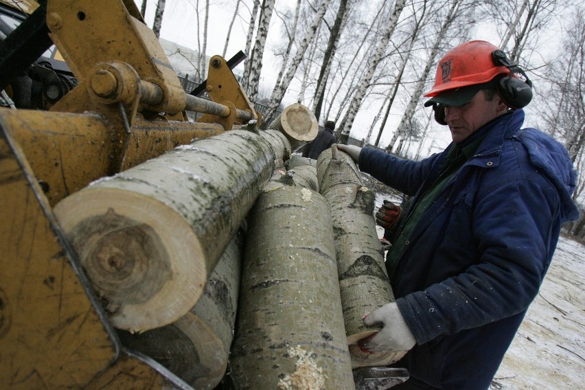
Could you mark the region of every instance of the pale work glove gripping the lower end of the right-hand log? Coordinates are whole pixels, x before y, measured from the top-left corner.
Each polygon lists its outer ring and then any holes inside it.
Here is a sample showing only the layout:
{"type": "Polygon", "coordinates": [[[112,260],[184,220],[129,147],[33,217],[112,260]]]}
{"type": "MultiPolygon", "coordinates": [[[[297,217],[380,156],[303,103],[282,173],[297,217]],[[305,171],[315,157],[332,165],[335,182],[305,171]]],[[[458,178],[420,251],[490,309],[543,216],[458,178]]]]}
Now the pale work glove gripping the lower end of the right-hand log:
{"type": "Polygon", "coordinates": [[[416,344],[413,332],[411,332],[409,325],[406,325],[398,305],[394,302],[387,303],[367,314],[364,317],[364,325],[382,325],[383,328],[380,332],[358,342],[363,351],[408,351],[416,344]]]}

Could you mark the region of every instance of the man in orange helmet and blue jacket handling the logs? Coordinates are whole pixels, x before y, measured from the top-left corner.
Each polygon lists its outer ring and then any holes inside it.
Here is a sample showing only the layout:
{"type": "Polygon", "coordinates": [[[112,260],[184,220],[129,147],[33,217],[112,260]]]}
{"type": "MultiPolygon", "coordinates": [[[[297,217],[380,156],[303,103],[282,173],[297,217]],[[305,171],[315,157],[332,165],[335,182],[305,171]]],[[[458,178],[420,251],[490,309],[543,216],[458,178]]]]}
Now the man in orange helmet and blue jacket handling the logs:
{"type": "Polygon", "coordinates": [[[413,196],[386,257],[397,299],[365,317],[383,328],[362,346],[409,350],[399,363],[411,378],[396,389],[488,389],[562,222],[578,217],[576,172],[561,144],[520,129],[531,82],[494,45],[450,50],[426,96],[451,132],[444,152],[409,161],[339,146],[360,170],[413,196]]]}

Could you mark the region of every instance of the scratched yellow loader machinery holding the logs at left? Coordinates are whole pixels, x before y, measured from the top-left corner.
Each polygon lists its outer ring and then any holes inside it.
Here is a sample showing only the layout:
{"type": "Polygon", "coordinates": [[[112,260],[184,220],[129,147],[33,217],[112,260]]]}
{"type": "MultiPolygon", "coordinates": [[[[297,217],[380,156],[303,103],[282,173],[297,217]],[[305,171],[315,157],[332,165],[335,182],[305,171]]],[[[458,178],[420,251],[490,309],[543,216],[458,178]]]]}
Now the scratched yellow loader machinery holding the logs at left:
{"type": "Polygon", "coordinates": [[[54,43],[77,84],[49,111],[0,108],[0,388],[189,388],[119,343],[52,207],[91,181],[260,118],[220,56],[209,64],[211,101],[187,95],[132,0],[48,0],[29,20],[1,48],[0,77],[19,70],[19,54],[38,56],[25,44],[41,42],[42,52],[54,43]],[[204,115],[190,122],[185,111],[204,115]]]}

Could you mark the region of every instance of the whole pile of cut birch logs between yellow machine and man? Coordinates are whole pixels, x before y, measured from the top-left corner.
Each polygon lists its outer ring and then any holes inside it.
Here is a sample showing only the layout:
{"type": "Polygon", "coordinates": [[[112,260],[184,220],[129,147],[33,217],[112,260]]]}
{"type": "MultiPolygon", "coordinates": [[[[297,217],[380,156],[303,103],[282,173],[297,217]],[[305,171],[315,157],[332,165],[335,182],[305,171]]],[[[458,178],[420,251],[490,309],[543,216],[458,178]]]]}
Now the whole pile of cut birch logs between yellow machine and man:
{"type": "Polygon", "coordinates": [[[91,183],[54,212],[125,348],[196,389],[226,371],[238,389],[354,389],[352,367],[397,358],[356,349],[375,331],[363,314],[393,300],[373,196],[341,152],[322,154],[319,177],[290,159],[317,135],[306,107],[249,127],[91,183]]]}

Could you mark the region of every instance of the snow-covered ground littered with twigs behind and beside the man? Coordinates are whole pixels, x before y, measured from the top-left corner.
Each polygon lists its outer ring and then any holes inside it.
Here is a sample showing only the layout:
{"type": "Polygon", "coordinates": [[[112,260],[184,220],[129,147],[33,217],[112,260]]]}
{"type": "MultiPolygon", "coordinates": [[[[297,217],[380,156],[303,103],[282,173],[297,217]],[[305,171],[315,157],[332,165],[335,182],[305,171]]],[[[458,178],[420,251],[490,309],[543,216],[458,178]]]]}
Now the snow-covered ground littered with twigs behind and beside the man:
{"type": "MultiPolygon", "coordinates": [[[[400,203],[396,196],[377,192],[376,209],[382,199],[400,203]]],[[[381,237],[383,231],[378,233],[381,237]]],[[[490,389],[585,389],[584,289],[585,246],[561,237],[490,389]]]]}

